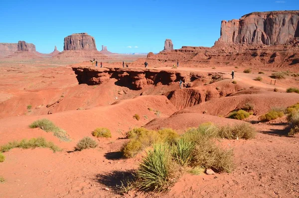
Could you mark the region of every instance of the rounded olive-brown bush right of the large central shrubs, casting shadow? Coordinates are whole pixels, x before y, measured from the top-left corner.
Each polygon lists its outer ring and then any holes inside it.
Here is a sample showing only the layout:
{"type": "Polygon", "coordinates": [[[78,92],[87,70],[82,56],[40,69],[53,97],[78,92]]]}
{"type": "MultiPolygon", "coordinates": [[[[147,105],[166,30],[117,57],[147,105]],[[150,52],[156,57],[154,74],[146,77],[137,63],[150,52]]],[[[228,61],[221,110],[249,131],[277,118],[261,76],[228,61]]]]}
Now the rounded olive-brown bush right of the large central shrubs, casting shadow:
{"type": "Polygon", "coordinates": [[[256,136],[255,128],[249,123],[226,125],[220,128],[218,133],[220,138],[225,139],[252,139],[256,136]]]}

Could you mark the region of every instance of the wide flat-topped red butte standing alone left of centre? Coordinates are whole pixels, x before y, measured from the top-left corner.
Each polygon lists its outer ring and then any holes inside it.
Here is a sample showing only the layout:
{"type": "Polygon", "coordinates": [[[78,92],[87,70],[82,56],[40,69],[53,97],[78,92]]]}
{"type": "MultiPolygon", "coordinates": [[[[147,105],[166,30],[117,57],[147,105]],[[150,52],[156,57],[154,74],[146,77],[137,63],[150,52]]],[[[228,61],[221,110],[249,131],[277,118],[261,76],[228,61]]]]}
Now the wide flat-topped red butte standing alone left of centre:
{"type": "Polygon", "coordinates": [[[74,33],[64,38],[63,50],[97,50],[96,41],[87,33],[74,33]]]}

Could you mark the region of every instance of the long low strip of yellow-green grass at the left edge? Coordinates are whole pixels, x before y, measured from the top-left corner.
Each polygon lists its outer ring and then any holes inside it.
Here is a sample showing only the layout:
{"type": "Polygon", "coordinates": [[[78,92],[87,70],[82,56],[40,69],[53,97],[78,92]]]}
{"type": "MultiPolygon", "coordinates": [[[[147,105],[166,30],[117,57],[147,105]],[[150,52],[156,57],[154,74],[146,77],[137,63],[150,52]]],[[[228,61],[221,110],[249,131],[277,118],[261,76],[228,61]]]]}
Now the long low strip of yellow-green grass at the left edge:
{"type": "Polygon", "coordinates": [[[22,148],[22,149],[35,149],[37,147],[49,148],[53,152],[61,151],[59,147],[54,145],[53,142],[47,142],[43,137],[31,138],[30,140],[23,139],[20,142],[13,141],[8,142],[6,145],[0,147],[0,152],[7,152],[13,148],[22,148]]]}

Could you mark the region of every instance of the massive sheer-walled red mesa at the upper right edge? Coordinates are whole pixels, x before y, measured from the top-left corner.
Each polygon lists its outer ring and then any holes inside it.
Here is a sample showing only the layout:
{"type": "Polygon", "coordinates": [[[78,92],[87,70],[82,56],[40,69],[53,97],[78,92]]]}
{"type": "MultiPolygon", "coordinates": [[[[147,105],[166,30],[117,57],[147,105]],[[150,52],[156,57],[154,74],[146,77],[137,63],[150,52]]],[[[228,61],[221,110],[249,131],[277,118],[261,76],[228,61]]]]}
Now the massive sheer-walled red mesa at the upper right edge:
{"type": "Polygon", "coordinates": [[[218,41],[281,45],[299,37],[299,10],[252,12],[240,19],[221,21],[218,41]]]}

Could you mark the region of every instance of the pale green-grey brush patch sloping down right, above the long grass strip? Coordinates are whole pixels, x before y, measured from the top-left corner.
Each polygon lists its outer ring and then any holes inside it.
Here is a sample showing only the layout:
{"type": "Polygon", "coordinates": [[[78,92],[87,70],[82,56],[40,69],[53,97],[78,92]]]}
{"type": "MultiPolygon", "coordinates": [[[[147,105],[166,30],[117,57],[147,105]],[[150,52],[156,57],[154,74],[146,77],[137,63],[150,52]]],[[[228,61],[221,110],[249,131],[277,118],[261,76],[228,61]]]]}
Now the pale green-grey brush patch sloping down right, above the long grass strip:
{"type": "Polygon", "coordinates": [[[32,124],[29,125],[31,129],[33,128],[40,128],[44,130],[45,132],[52,132],[54,136],[59,138],[63,142],[70,142],[71,139],[69,135],[66,133],[66,131],[60,129],[57,127],[53,122],[51,122],[48,119],[41,119],[36,120],[32,124]]]}

